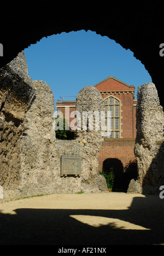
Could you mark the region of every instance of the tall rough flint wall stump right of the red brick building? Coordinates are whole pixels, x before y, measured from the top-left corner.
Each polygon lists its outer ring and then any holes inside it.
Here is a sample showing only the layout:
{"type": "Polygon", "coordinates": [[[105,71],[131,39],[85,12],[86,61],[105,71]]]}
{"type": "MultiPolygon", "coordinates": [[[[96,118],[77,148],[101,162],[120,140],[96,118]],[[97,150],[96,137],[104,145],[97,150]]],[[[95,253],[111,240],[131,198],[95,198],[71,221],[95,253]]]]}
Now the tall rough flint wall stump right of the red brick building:
{"type": "Polygon", "coordinates": [[[156,87],[147,83],[137,91],[137,137],[134,153],[138,166],[138,191],[159,194],[164,185],[163,162],[163,108],[160,106],[156,87]]]}

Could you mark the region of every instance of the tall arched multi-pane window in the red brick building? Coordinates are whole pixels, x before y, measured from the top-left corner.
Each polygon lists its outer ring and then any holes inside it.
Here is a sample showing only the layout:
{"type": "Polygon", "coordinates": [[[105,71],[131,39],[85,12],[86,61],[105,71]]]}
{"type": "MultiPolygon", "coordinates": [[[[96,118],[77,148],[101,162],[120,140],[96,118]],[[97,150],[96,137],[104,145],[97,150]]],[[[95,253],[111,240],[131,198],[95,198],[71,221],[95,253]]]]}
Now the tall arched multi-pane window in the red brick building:
{"type": "Polygon", "coordinates": [[[104,100],[106,107],[106,138],[120,138],[120,101],[114,96],[104,100]]]}

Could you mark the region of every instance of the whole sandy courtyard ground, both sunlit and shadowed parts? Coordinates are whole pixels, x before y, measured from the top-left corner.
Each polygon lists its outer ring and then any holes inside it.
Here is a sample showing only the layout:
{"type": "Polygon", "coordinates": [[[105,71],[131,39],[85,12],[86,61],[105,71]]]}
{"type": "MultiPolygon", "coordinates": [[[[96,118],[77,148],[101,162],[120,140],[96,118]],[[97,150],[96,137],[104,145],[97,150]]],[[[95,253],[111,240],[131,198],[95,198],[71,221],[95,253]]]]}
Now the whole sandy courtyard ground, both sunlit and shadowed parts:
{"type": "Polygon", "coordinates": [[[164,245],[164,199],[126,193],[0,201],[0,245],[164,245]]]}

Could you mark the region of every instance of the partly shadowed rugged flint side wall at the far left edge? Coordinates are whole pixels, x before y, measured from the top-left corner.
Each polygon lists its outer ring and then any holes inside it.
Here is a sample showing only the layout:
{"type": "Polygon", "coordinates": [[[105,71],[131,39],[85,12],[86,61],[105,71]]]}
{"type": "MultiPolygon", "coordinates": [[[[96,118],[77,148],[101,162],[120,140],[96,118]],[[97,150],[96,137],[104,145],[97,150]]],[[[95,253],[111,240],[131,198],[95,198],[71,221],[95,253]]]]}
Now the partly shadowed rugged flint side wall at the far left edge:
{"type": "Polygon", "coordinates": [[[12,191],[20,181],[19,140],[25,114],[34,99],[24,53],[1,69],[0,89],[0,185],[12,191]]]}

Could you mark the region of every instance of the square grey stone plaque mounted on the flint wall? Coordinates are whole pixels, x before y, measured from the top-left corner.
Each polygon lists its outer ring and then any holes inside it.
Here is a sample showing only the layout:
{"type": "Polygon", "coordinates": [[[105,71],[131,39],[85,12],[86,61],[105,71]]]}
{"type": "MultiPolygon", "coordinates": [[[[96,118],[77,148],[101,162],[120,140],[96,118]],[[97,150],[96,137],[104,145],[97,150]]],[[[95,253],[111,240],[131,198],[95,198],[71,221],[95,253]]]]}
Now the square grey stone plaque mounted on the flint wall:
{"type": "Polygon", "coordinates": [[[61,176],[81,174],[81,156],[78,154],[66,153],[61,156],[61,176]]]}

